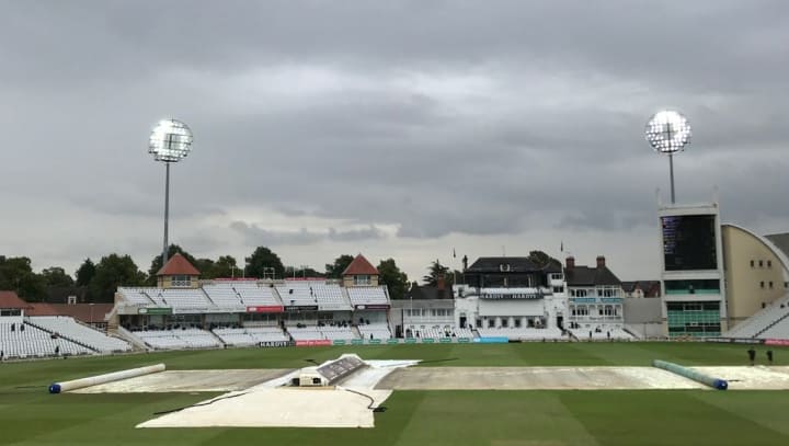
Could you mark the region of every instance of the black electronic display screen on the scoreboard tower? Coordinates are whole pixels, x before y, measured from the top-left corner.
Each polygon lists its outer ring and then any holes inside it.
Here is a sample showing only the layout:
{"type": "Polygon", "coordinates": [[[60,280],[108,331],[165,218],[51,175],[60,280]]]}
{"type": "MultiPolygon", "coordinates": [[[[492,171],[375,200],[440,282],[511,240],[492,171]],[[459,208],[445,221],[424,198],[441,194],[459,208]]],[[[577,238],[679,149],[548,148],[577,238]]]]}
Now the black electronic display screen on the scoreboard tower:
{"type": "Polygon", "coordinates": [[[661,217],[665,271],[718,267],[714,215],[661,217]]]}

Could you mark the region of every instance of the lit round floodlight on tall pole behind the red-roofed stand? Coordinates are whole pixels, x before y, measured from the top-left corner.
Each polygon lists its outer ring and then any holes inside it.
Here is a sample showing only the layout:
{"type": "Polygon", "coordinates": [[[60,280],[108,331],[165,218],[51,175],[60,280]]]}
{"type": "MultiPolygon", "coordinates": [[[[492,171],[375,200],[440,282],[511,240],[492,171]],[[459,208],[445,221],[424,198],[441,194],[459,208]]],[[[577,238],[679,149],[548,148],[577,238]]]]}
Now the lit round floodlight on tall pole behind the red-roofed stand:
{"type": "Polygon", "coordinates": [[[192,150],[192,130],[178,119],[161,119],[148,142],[148,153],[153,160],[161,161],[165,167],[164,174],[164,244],[162,248],[162,266],[168,261],[168,219],[170,218],[170,164],[181,161],[192,150]]]}

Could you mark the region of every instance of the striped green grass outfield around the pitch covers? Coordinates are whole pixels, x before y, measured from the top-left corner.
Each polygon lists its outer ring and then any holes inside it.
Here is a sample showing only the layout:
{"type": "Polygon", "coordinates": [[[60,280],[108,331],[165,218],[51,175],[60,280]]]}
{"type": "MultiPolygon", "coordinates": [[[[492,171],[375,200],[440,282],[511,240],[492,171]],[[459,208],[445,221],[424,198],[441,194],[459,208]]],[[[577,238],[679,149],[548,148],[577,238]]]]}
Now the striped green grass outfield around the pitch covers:
{"type": "MultiPolygon", "coordinates": [[[[396,391],[364,428],[135,430],[216,393],[59,394],[46,387],[123,368],[281,368],[341,353],[431,366],[746,365],[748,346],[701,343],[435,344],[239,348],[0,364],[0,444],[20,445],[782,445],[789,391],[396,391]],[[442,359],[451,358],[444,362],[442,359]]],[[[765,363],[764,346],[756,347],[765,363]]],[[[777,365],[789,348],[773,347],[777,365]]]]}

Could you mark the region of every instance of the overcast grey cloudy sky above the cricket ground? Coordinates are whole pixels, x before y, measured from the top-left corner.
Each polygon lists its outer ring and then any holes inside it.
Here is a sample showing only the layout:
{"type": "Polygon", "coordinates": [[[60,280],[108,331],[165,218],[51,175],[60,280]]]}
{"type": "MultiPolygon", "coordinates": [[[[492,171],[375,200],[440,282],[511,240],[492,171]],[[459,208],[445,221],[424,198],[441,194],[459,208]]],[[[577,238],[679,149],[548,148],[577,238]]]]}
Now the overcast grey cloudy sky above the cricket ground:
{"type": "Polygon", "coordinates": [[[789,230],[788,23],[781,0],[0,0],[0,254],[147,270],[172,116],[195,256],[361,252],[413,281],[538,249],[658,278],[664,107],[694,128],[679,203],[717,187],[723,221],[789,230]]]}

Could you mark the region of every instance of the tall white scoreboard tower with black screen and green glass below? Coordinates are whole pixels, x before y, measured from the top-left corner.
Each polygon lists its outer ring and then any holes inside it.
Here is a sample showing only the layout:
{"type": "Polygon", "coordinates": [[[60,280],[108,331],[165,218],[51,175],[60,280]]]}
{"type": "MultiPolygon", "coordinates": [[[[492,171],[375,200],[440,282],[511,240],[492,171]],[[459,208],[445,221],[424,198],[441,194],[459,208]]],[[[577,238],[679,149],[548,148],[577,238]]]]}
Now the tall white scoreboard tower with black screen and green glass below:
{"type": "Polygon", "coordinates": [[[727,308],[718,204],[666,205],[658,215],[664,333],[719,336],[727,308]]]}

